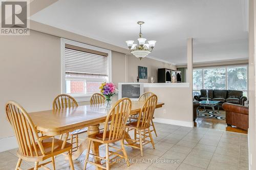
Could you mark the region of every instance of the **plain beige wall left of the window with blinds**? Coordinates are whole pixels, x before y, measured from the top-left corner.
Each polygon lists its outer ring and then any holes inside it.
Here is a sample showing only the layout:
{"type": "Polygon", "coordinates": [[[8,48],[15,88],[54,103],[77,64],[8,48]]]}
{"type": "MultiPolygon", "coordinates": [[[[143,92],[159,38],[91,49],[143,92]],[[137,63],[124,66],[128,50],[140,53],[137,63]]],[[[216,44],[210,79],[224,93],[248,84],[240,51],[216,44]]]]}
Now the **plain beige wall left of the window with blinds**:
{"type": "Polygon", "coordinates": [[[9,100],[28,111],[47,110],[60,93],[60,39],[31,31],[0,38],[0,138],[11,136],[4,106],[9,100]]]}

